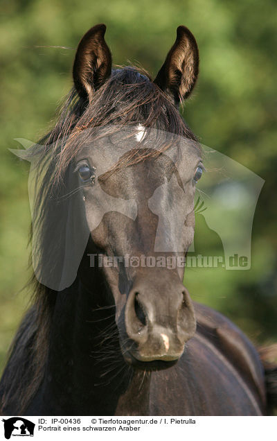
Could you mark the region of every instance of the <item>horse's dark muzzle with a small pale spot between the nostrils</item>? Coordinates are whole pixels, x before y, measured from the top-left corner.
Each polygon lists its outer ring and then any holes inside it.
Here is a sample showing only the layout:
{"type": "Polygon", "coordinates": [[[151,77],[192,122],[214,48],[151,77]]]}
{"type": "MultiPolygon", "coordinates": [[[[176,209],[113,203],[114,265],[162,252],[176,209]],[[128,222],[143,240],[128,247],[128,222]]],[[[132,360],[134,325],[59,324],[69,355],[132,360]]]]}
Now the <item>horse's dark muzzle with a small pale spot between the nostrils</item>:
{"type": "MultiPolygon", "coordinates": [[[[148,281],[149,282],[149,281],[148,281]]],[[[129,352],[139,361],[173,361],[195,334],[193,303],[181,282],[138,282],[125,307],[129,352]]]]}

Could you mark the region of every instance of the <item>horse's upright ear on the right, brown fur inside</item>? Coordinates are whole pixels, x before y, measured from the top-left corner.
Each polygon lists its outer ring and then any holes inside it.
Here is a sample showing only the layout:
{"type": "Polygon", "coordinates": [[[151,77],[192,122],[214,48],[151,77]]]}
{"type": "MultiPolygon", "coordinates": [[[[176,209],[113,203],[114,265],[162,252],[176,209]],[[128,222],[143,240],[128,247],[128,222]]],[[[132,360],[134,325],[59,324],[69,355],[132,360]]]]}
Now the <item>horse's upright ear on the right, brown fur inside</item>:
{"type": "Polygon", "coordinates": [[[186,26],[177,28],[175,44],[168,52],[154,83],[179,106],[195,86],[199,67],[197,42],[186,26]]]}

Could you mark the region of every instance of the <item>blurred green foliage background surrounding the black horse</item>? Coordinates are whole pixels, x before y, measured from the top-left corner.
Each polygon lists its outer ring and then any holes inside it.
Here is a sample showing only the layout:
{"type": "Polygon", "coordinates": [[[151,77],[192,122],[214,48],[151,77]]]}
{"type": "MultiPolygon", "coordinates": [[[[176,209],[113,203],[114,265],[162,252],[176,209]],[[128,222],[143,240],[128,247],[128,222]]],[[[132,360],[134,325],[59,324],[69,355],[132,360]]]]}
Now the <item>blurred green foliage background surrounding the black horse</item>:
{"type": "MultiPolygon", "coordinates": [[[[57,103],[72,85],[74,49],[101,22],[107,24],[114,63],[139,62],[153,76],[177,26],[195,35],[200,75],[185,119],[203,144],[260,175],[265,185],[253,223],[251,270],[188,268],[186,286],[253,342],[277,341],[276,2],[2,0],[0,17],[0,367],[29,295],[20,291],[29,276],[28,164],[8,148],[20,147],[17,137],[39,139],[51,126],[57,103]]],[[[213,234],[204,246],[208,254],[219,252],[213,234]]]]}

